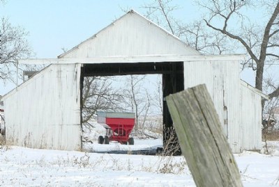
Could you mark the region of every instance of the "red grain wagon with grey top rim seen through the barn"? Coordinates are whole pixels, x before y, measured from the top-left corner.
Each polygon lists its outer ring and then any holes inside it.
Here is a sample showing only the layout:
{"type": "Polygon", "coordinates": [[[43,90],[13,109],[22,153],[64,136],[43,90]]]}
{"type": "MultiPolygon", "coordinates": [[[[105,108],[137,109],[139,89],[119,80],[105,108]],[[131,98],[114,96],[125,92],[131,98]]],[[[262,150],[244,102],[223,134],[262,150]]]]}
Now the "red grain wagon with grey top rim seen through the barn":
{"type": "Polygon", "coordinates": [[[98,138],[99,144],[117,141],[121,144],[134,145],[134,138],[129,137],[135,124],[134,113],[97,112],[97,115],[97,122],[106,129],[105,138],[103,136],[98,138]]]}

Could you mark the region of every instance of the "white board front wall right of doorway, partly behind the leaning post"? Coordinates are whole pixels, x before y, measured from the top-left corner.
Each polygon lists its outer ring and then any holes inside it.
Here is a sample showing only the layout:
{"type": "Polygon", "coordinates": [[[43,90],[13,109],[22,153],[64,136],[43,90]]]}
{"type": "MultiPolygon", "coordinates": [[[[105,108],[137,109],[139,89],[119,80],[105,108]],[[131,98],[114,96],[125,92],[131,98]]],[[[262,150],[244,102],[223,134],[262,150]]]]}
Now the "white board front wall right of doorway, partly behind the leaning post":
{"type": "Polygon", "coordinates": [[[184,62],[185,88],[205,83],[232,152],[241,152],[238,60],[184,62]]]}

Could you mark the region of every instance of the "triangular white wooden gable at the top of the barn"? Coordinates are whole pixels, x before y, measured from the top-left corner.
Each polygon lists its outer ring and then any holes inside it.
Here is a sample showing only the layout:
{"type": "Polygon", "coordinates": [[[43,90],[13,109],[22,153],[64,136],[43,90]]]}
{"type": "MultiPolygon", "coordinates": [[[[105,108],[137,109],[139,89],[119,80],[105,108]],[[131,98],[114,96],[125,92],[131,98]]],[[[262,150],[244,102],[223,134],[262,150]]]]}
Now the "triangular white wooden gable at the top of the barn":
{"type": "Polygon", "coordinates": [[[195,49],[149,19],[130,10],[105,29],[58,58],[199,55],[195,49]]]}

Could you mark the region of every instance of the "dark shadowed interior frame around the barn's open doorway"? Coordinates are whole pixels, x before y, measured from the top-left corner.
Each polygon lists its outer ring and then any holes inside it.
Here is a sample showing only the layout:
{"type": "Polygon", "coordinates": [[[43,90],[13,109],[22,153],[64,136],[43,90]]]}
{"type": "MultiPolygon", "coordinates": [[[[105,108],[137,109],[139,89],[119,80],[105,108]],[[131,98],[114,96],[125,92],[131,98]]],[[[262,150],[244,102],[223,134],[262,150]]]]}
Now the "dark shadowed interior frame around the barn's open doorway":
{"type": "Polygon", "coordinates": [[[169,140],[170,136],[172,136],[170,133],[172,132],[173,126],[172,118],[169,114],[165,97],[169,94],[184,90],[183,62],[84,64],[82,66],[80,81],[81,95],[84,87],[84,77],[86,76],[121,76],[134,74],[162,74],[163,145],[167,147],[173,147],[173,144],[167,143],[167,140],[169,140]]]}

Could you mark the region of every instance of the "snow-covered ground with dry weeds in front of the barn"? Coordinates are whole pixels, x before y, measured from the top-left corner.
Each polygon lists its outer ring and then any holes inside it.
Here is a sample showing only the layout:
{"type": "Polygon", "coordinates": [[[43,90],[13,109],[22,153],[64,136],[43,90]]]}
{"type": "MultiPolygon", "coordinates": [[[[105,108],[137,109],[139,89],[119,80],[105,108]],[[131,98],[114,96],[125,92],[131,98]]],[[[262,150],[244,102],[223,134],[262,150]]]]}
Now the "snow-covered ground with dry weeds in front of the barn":
{"type": "MultiPolygon", "coordinates": [[[[98,149],[135,149],[161,140],[135,140],[136,145],[96,145],[98,149]]],[[[271,155],[234,154],[244,186],[279,186],[279,142],[269,142],[271,155]]],[[[195,186],[183,156],[142,156],[66,152],[22,147],[0,149],[0,186],[195,186]]]]}

